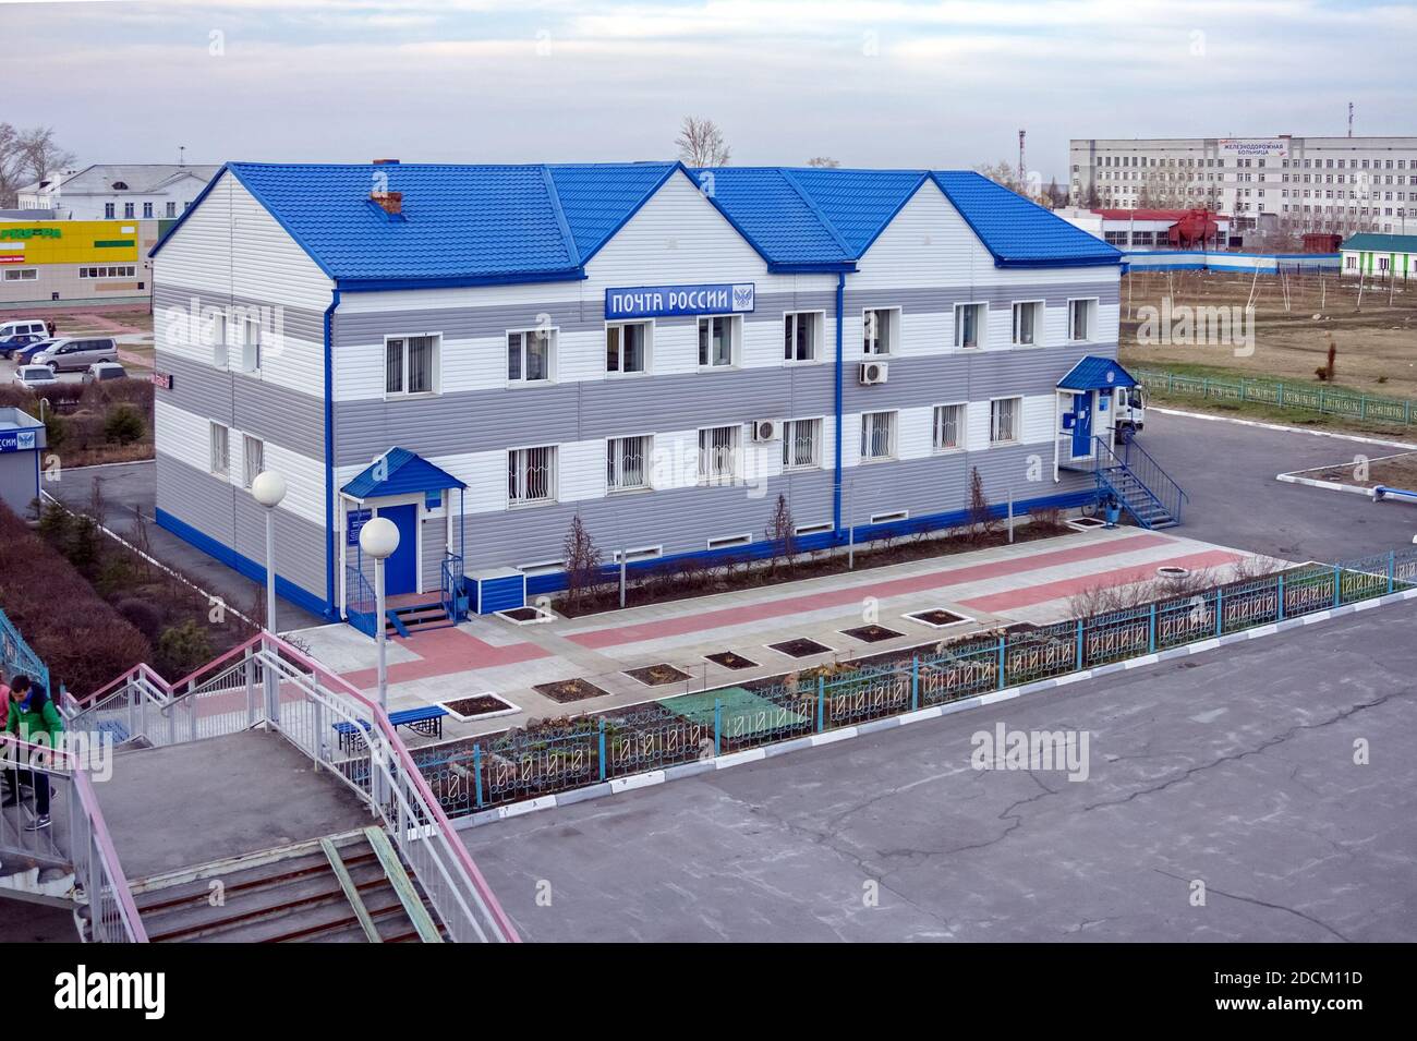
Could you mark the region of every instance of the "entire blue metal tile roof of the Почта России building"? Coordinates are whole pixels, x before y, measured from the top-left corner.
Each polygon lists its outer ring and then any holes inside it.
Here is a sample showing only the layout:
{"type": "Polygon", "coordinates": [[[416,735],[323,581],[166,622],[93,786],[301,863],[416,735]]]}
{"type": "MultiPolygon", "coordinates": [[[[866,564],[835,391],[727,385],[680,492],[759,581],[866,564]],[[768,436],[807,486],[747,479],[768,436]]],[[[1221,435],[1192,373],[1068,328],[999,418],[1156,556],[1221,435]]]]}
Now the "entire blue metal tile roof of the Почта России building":
{"type": "MultiPolygon", "coordinates": [[[[524,166],[228,163],[341,289],[551,282],[585,262],[676,173],[699,183],[778,272],[854,271],[934,180],[1000,268],[1119,263],[1112,246],[972,171],[721,167],[682,163],[524,166]],[[391,217],[374,178],[402,193],[391,217]]],[[[197,210],[214,177],[171,231],[197,210]]]]}

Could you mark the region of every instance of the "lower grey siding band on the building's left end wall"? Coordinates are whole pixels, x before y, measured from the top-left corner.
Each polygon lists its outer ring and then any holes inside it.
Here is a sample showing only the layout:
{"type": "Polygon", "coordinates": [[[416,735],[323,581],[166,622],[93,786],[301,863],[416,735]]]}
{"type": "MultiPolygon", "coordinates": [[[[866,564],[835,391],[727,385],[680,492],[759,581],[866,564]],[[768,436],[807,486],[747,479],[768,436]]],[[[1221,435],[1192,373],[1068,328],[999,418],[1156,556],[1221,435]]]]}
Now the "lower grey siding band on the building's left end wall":
{"type": "MultiPolygon", "coordinates": [[[[265,565],[265,508],[249,491],[162,452],[154,465],[159,508],[265,565]]],[[[324,528],[276,510],[275,540],[276,574],[324,599],[324,528]]]]}

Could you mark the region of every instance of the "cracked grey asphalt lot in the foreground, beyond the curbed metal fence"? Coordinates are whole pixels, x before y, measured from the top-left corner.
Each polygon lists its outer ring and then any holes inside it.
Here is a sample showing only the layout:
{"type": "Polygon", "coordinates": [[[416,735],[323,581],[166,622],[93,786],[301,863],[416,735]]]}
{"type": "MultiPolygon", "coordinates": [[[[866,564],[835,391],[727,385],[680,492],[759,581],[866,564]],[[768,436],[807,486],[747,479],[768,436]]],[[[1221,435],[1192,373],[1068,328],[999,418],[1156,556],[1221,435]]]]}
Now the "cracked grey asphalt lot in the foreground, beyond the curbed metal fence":
{"type": "Polygon", "coordinates": [[[1369,610],[463,834],[531,940],[1410,942],[1414,625],[1369,610]],[[1000,722],[1085,731],[1087,779],[973,769],[1000,722]]]}

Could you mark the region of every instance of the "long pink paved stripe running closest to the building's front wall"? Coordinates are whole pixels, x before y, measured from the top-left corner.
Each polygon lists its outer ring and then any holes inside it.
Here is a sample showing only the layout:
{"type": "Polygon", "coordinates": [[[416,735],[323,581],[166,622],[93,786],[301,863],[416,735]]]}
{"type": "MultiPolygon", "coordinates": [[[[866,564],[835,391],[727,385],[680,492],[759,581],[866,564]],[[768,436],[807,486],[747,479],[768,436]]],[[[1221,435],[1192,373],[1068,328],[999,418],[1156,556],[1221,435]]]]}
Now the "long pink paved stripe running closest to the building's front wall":
{"type": "MultiPolygon", "coordinates": [[[[803,596],[785,596],[782,599],[754,603],[751,606],[724,608],[701,615],[687,613],[679,618],[666,618],[655,622],[642,622],[639,625],[615,626],[609,629],[591,629],[588,632],[567,635],[567,639],[592,650],[616,647],[625,643],[638,643],[640,640],[653,640],[665,636],[683,636],[684,633],[701,632],[704,629],[743,625],[744,622],[761,622],[799,612],[839,608],[849,603],[859,603],[863,596],[886,599],[888,596],[903,596],[907,593],[925,592],[928,589],[941,589],[945,586],[965,585],[968,582],[979,582],[988,578],[1020,575],[1029,571],[1058,567],[1061,564],[1102,559],[1107,557],[1117,557],[1119,554],[1135,552],[1136,550],[1149,550],[1156,545],[1166,545],[1172,541],[1173,540],[1165,535],[1151,533],[1131,535],[1127,538],[1110,538],[1104,542],[1093,542],[1090,545],[1078,545],[1068,550],[1053,550],[1049,552],[1016,557],[1005,561],[992,561],[989,564],[975,564],[965,568],[932,571],[925,575],[910,575],[907,578],[894,578],[886,582],[856,585],[847,589],[828,589],[803,596]]],[[[1098,575],[1090,575],[1081,581],[1085,585],[1095,585],[1098,578],[1098,575]]],[[[1033,588],[1046,589],[1047,586],[1030,586],[1030,589],[1033,588]]],[[[1003,596],[1009,593],[999,595],[1003,596]]],[[[1054,599],[1054,596],[1056,593],[1049,593],[1046,596],[1040,596],[1039,601],[1054,599]]]]}

